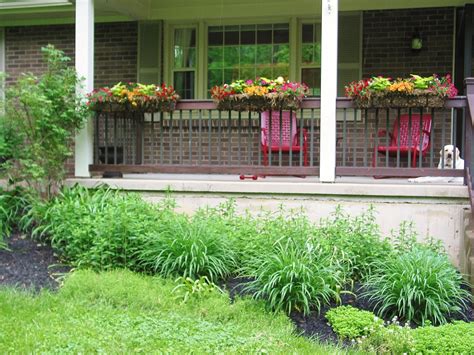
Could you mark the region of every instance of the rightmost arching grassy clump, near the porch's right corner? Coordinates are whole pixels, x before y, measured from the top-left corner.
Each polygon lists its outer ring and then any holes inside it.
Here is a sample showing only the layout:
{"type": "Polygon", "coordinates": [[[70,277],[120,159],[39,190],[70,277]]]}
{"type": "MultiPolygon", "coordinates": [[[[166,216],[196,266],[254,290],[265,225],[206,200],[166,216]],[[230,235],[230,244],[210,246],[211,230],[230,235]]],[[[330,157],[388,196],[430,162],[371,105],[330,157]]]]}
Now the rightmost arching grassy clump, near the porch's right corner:
{"type": "Polygon", "coordinates": [[[415,248],[377,264],[378,273],[365,282],[364,296],[383,316],[424,324],[446,322],[459,312],[468,292],[462,276],[445,255],[415,248]]]}

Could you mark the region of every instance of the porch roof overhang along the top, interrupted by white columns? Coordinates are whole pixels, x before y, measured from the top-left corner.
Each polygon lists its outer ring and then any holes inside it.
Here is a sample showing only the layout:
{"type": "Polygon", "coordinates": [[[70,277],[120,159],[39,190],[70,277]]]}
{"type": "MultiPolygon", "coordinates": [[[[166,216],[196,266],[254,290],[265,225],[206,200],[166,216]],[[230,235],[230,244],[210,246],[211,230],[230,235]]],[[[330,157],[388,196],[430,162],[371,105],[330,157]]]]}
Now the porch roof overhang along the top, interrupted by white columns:
{"type": "MultiPolygon", "coordinates": [[[[466,0],[339,0],[340,11],[464,6],[466,0]]],[[[73,23],[75,0],[0,0],[2,26],[73,23]]],[[[96,0],[96,22],[318,16],[314,0],[96,0]]]]}

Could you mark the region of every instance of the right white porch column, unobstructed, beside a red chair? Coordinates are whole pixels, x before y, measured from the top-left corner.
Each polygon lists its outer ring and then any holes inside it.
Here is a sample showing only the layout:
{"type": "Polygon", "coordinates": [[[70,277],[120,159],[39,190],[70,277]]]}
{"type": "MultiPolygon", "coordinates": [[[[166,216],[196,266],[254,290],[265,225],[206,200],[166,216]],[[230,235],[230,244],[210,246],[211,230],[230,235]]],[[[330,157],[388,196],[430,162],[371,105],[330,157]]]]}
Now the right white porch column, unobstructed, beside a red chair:
{"type": "Polygon", "coordinates": [[[338,0],[322,0],[320,180],[336,178],[338,0]]]}

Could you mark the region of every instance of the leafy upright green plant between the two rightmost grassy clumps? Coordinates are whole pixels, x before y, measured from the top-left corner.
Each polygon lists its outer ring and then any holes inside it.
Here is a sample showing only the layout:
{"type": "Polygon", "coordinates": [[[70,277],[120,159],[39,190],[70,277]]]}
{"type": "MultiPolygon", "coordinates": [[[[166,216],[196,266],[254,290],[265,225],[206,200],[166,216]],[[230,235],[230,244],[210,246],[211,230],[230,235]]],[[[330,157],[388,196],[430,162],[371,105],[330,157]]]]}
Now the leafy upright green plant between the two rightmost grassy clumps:
{"type": "Polygon", "coordinates": [[[373,207],[356,217],[338,207],[333,218],[322,220],[318,234],[323,247],[336,253],[352,280],[369,276],[376,262],[389,256],[392,250],[389,242],[380,236],[373,207]]]}

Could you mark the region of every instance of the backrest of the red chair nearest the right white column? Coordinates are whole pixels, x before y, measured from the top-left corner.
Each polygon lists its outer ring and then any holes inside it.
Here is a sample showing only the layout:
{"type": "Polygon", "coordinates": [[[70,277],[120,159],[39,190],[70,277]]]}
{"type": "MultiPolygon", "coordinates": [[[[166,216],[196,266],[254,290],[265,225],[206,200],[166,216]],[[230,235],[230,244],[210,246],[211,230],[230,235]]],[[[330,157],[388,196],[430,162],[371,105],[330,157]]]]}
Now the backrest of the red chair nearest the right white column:
{"type": "Polygon", "coordinates": [[[296,113],[290,111],[272,111],[272,124],[270,132],[270,112],[265,111],[261,114],[262,117],[262,128],[266,130],[267,141],[271,142],[272,147],[280,146],[280,127],[281,127],[281,146],[290,147],[290,143],[293,145],[297,142],[298,127],[296,127],[296,113]],[[280,124],[280,112],[281,112],[281,124],[280,124]],[[290,117],[291,116],[291,117],[290,117]],[[290,123],[291,120],[291,123],[290,123]],[[291,133],[290,133],[291,127],[291,133]],[[271,134],[271,137],[269,135],[271,134]]]}

